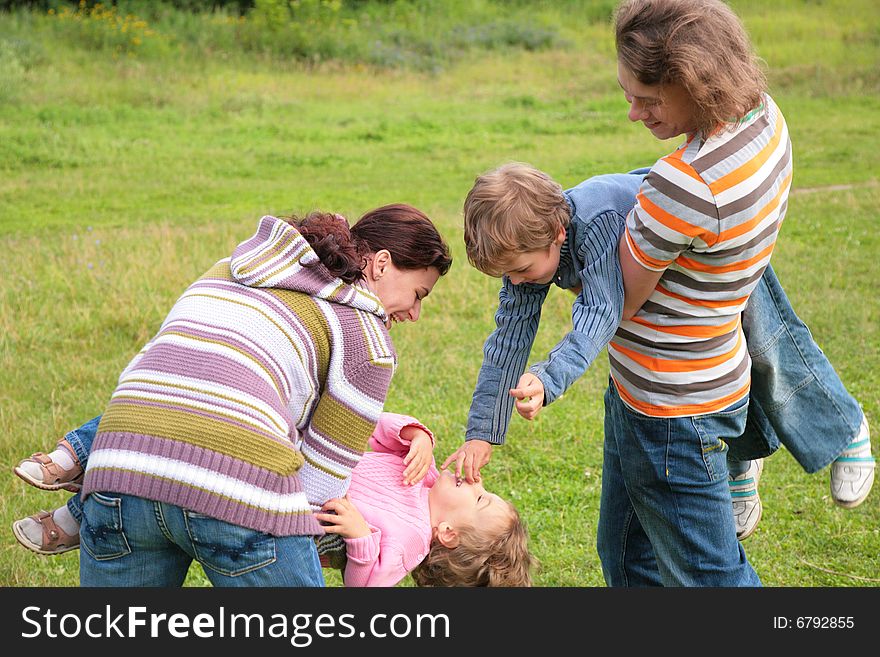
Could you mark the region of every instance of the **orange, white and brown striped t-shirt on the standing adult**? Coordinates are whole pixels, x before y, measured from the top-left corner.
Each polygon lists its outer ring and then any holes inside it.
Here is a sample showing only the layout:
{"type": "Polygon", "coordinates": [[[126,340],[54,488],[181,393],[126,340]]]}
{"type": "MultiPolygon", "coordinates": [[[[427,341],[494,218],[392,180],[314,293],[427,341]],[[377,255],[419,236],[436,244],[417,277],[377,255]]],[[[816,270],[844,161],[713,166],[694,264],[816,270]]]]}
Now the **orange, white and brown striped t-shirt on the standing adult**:
{"type": "Polygon", "coordinates": [[[704,415],[748,394],[740,313],[770,262],[791,176],[785,119],[766,95],[733,129],[691,138],[651,169],[626,242],[644,267],[664,273],[608,347],[630,408],[704,415]]]}

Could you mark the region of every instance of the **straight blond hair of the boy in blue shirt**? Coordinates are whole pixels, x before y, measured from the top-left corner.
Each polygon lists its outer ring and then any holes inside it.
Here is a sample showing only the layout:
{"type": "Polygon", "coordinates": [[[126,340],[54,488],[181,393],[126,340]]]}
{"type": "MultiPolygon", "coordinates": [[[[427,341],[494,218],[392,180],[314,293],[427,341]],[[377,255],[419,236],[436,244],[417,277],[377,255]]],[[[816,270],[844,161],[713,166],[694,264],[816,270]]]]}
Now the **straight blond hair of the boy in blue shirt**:
{"type": "Polygon", "coordinates": [[[479,176],[464,202],[464,243],[471,264],[500,276],[517,254],[547,248],[568,228],[562,187],[543,171],[510,162],[479,176]]]}

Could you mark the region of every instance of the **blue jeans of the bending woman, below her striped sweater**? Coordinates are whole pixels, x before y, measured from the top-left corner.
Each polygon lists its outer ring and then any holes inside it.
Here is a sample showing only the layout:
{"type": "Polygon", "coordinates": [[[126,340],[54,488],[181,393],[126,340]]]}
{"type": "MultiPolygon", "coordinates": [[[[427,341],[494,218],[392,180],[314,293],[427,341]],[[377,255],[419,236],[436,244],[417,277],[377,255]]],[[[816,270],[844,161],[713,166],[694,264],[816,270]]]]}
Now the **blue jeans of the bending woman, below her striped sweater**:
{"type": "Polygon", "coordinates": [[[173,504],[90,493],[80,586],[180,586],[193,560],[214,586],[323,586],[311,536],[276,537],[173,504]]]}

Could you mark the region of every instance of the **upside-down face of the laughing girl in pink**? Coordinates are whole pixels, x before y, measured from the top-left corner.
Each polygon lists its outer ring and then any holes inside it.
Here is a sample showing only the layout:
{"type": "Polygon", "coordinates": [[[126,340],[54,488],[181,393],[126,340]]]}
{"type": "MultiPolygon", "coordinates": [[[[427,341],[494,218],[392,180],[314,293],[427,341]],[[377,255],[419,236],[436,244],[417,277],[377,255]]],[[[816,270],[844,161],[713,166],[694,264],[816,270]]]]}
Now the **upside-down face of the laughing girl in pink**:
{"type": "Polygon", "coordinates": [[[456,485],[450,470],[441,470],[440,476],[428,491],[431,526],[448,523],[453,528],[462,525],[487,529],[501,528],[510,519],[507,502],[488,492],[480,482],[456,485]]]}

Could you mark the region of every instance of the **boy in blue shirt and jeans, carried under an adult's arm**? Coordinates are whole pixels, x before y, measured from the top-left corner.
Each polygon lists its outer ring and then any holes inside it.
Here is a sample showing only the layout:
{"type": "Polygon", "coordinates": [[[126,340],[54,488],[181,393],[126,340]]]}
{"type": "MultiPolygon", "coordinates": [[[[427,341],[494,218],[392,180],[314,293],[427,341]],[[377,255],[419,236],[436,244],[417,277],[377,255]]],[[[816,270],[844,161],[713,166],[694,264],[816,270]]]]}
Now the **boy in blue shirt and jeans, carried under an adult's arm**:
{"type": "MultiPolygon", "coordinates": [[[[567,191],[521,163],[477,178],[464,204],[468,259],[480,271],[502,277],[502,287],[466,442],[443,467],[455,462],[459,476],[479,478],[492,445],[504,442],[514,406],[527,420],[534,418],[614,336],[624,306],[620,236],[647,173],[595,176],[567,191]],[[525,371],[551,284],[576,294],[572,330],[525,371]]],[[[771,267],[742,321],[753,382],[746,432],[731,441],[728,453],[740,539],[760,519],[760,459],[780,442],[807,472],[833,462],[832,496],[846,508],[864,501],[874,474],[867,420],[794,313],[771,267]]]]}

